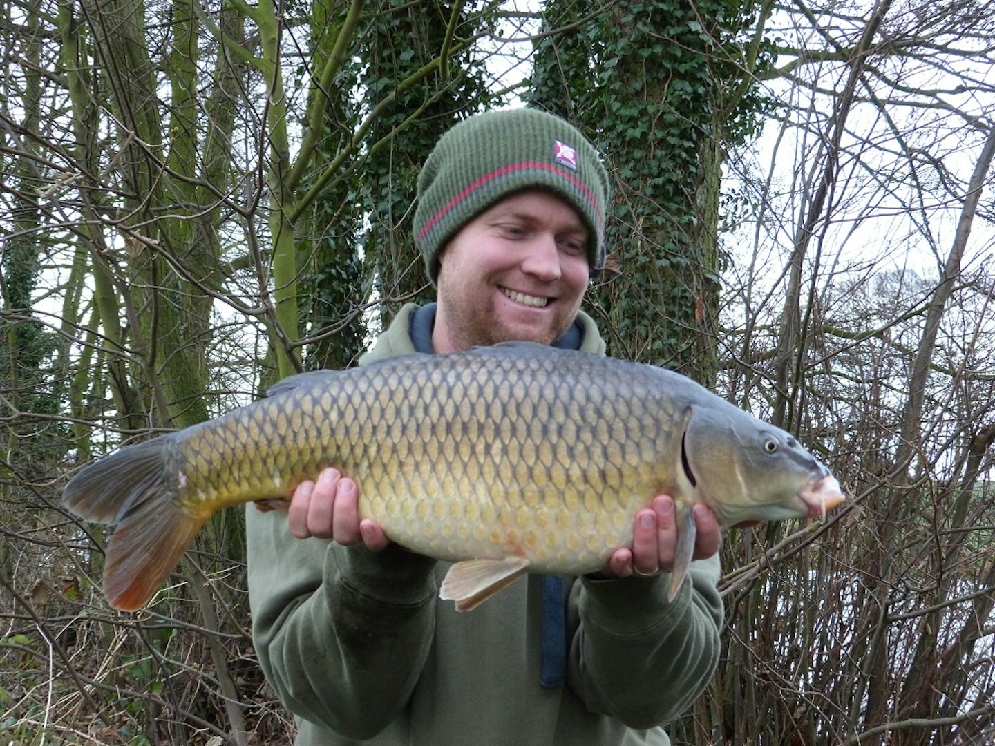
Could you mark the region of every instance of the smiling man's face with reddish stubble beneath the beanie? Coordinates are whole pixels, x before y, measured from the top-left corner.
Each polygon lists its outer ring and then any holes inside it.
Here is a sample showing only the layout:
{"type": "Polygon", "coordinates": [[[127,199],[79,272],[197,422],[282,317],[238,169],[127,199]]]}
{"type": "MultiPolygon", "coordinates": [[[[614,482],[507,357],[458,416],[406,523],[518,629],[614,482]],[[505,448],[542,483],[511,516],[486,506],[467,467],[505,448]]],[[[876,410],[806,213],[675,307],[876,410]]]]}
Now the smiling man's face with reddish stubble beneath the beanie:
{"type": "Polygon", "coordinates": [[[539,189],[515,192],[478,215],[440,255],[436,351],[556,341],[580,308],[590,240],[577,212],[539,189]]]}

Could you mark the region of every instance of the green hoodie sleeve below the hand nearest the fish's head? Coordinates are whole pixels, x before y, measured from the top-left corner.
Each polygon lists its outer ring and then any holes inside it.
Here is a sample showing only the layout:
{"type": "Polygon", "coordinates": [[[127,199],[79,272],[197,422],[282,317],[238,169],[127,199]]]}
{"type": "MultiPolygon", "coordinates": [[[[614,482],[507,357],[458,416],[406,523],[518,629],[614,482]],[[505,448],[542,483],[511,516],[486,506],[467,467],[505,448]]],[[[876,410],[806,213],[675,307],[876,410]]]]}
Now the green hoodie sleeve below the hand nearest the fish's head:
{"type": "Polygon", "coordinates": [[[573,585],[568,683],[593,712],[645,729],[679,717],[718,663],[717,555],[693,562],[667,601],[670,575],[573,585]]]}

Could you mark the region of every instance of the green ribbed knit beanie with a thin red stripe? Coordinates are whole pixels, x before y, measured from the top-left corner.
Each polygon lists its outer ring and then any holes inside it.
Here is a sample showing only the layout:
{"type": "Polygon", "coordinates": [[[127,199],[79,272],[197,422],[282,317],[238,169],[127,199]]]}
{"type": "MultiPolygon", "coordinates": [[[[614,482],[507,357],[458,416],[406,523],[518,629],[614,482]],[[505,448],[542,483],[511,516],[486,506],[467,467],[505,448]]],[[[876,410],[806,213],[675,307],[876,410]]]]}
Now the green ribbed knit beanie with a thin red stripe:
{"type": "Polygon", "coordinates": [[[429,280],[439,254],[464,225],[522,189],[548,189],[566,200],[587,228],[591,273],[605,266],[608,172],[594,146],[565,119],[535,108],[486,111],[436,144],[418,177],[415,244],[429,280]]]}

